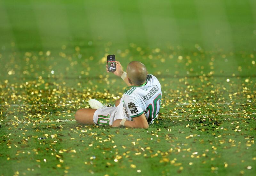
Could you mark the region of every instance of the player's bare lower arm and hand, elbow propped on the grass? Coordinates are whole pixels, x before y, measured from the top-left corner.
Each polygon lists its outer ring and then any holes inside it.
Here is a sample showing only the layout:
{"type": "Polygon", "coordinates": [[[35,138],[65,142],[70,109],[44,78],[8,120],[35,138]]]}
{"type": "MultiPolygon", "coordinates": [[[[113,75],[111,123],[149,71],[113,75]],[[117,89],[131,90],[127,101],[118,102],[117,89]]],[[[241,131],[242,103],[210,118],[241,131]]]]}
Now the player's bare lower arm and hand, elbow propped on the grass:
{"type": "MultiPolygon", "coordinates": [[[[112,127],[120,127],[121,120],[115,120],[112,124],[112,127]]],[[[133,121],[130,120],[126,120],[124,122],[124,126],[125,127],[131,127],[131,128],[148,128],[148,121],[146,119],[145,114],[143,113],[142,115],[138,116],[138,117],[134,117],[133,121]]]]}

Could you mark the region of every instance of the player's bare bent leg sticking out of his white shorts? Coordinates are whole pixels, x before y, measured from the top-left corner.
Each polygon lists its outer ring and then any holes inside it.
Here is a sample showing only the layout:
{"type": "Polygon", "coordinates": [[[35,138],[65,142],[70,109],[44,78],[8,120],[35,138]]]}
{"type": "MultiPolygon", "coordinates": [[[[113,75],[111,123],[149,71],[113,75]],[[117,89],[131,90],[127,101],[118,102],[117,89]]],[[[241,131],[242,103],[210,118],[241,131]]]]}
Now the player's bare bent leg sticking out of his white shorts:
{"type": "Polygon", "coordinates": [[[93,115],[96,110],[97,109],[79,109],[75,114],[76,122],[93,125],[93,115]]]}

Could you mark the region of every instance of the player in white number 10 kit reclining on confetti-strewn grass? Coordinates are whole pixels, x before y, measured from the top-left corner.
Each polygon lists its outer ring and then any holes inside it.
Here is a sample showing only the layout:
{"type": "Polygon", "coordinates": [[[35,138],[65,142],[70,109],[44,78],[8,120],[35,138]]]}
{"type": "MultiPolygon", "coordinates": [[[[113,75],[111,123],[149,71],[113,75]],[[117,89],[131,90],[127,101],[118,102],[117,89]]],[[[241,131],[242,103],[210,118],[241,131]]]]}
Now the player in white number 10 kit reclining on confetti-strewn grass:
{"type": "Polygon", "coordinates": [[[160,110],[161,85],[155,76],[148,74],[141,62],[130,62],[126,72],[120,62],[116,61],[116,71],[113,73],[129,86],[126,90],[130,89],[116,101],[115,106],[107,107],[90,99],[88,102],[92,109],[76,111],[75,118],[78,123],[148,128],[148,124],[154,121],[160,110]]]}

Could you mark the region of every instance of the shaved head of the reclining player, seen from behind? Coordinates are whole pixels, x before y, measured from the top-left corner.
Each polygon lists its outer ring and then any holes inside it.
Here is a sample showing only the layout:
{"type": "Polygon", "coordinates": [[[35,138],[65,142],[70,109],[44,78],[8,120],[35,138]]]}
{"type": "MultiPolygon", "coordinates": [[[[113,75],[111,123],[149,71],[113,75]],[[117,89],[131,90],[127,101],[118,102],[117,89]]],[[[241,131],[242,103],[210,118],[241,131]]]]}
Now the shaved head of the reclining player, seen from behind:
{"type": "Polygon", "coordinates": [[[127,66],[127,76],[137,85],[142,85],[147,79],[147,68],[139,61],[132,61],[127,66]]]}

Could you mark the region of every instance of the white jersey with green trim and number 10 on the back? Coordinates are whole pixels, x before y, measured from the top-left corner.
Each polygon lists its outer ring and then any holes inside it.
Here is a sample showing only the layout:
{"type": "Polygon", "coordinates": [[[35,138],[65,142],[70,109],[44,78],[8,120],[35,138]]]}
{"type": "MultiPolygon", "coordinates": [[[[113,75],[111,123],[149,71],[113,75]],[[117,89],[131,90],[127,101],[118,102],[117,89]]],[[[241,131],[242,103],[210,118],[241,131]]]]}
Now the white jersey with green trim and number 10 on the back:
{"type": "Polygon", "coordinates": [[[147,75],[147,81],[141,86],[131,86],[121,98],[124,103],[124,116],[128,120],[138,117],[145,113],[148,123],[152,123],[158,116],[162,91],[157,78],[152,74],[147,75]]]}

